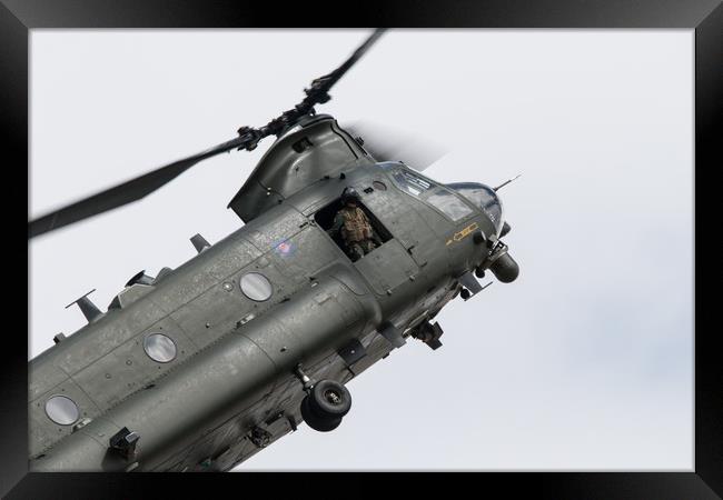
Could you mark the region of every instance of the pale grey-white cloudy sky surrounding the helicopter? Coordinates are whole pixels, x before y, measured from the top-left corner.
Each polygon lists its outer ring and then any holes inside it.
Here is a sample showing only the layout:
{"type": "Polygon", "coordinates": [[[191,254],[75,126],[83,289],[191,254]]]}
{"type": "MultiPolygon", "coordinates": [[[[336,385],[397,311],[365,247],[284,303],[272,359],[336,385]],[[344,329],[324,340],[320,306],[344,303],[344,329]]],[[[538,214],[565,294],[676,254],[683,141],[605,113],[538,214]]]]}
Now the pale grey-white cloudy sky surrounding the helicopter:
{"type": "MultiPolygon", "coordinates": [[[[366,33],[33,30],[31,216],[265,123],[366,33]]],[[[341,123],[447,146],[439,181],[523,172],[501,191],[521,277],[351,381],[338,430],[241,470],[692,470],[693,31],[394,30],[331,93],[341,123]]],[[[29,358],[83,324],[68,302],[239,228],[267,147],[33,240],[29,358]]]]}

